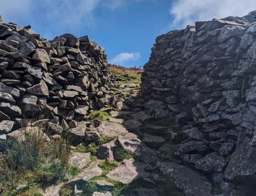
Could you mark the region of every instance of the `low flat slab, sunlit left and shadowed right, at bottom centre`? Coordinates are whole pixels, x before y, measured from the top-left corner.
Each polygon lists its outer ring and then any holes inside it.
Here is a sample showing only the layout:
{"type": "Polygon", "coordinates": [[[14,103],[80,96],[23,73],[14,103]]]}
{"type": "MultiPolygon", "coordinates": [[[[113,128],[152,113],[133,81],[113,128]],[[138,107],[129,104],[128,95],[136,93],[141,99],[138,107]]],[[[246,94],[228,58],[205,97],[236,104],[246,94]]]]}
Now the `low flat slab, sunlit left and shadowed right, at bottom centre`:
{"type": "Polygon", "coordinates": [[[135,162],[132,158],[126,159],[121,164],[109,172],[106,177],[122,182],[123,184],[129,184],[139,177],[150,177],[151,173],[144,170],[146,164],[142,162],[135,162]]]}

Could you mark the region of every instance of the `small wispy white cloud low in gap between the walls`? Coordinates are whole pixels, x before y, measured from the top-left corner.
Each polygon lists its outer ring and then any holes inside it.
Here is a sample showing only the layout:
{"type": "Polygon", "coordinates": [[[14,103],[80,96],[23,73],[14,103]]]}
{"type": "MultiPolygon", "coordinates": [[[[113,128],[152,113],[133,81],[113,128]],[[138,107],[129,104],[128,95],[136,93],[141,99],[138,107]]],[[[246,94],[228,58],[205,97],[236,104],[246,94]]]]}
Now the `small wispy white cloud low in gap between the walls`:
{"type": "Polygon", "coordinates": [[[110,64],[123,64],[127,61],[136,61],[140,58],[140,53],[120,53],[111,58],[110,64]]]}

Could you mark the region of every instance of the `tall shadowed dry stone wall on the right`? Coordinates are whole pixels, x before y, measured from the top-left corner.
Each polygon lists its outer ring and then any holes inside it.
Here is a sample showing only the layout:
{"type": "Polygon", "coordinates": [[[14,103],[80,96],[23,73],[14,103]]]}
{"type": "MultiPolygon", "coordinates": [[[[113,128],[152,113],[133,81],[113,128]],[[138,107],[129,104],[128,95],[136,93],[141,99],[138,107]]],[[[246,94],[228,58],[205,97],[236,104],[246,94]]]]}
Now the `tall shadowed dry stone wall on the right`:
{"type": "Polygon", "coordinates": [[[256,11],[158,36],[144,69],[142,98],[175,116],[182,164],[224,195],[255,193],[256,11]]]}

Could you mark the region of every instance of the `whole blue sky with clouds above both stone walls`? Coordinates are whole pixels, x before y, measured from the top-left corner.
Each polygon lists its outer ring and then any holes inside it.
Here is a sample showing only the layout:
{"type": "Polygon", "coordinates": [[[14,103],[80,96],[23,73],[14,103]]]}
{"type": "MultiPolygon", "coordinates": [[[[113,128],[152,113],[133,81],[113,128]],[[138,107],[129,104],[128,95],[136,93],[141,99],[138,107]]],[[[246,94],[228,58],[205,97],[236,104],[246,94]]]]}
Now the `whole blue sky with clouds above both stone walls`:
{"type": "Polygon", "coordinates": [[[105,48],[110,63],[127,67],[148,61],[158,35],[256,9],[255,0],[0,0],[0,5],[4,22],[30,24],[47,39],[89,35],[105,48]]]}

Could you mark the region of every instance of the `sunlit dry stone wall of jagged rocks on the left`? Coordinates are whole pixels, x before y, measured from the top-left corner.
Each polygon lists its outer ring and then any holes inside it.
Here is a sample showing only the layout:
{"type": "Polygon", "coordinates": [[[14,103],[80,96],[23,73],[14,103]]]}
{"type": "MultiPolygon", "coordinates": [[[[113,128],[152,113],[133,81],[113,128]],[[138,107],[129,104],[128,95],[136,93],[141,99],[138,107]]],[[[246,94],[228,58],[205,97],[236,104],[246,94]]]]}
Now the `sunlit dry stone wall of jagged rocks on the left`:
{"type": "Polygon", "coordinates": [[[104,48],[88,36],[52,41],[0,18],[0,143],[26,120],[82,120],[110,102],[104,48]]]}

